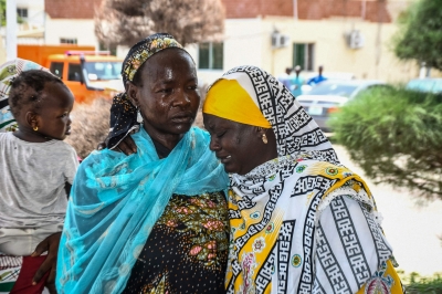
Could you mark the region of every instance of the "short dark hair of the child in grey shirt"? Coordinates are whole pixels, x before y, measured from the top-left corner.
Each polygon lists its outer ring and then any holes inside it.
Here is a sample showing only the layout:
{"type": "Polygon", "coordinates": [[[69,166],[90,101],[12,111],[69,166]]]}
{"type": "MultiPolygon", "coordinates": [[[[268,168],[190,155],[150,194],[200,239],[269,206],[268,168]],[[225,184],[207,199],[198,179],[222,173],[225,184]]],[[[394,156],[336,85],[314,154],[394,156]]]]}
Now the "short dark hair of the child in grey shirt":
{"type": "MultiPolygon", "coordinates": [[[[66,85],[57,76],[41,70],[30,70],[20,73],[11,83],[9,92],[9,107],[12,115],[17,118],[24,105],[32,104],[38,109],[40,107],[42,92],[46,83],[60,83],[66,85]]],[[[66,87],[67,88],[67,87],[66,87]]]]}

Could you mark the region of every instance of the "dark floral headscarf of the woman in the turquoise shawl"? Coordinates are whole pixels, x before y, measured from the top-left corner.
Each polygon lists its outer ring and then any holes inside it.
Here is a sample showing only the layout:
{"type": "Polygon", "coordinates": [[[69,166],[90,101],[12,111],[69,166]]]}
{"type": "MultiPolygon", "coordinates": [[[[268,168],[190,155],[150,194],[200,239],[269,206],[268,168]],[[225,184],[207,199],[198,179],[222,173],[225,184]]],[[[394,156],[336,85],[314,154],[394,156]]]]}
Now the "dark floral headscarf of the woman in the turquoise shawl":
{"type": "MultiPolygon", "coordinates": [[[[182,49],[172,35],[156,33],[139,41],[129,50],[122,69],[126,91],[127,82],[134,81],[138,69],[155,53],[168,48],[182,49]]],[[[127,97],[127,93],[116,95],[110,107],[110,132],[106,141],[107,148],[112,149],[118,145],[136,124],[137,109],[127,97]]]]}

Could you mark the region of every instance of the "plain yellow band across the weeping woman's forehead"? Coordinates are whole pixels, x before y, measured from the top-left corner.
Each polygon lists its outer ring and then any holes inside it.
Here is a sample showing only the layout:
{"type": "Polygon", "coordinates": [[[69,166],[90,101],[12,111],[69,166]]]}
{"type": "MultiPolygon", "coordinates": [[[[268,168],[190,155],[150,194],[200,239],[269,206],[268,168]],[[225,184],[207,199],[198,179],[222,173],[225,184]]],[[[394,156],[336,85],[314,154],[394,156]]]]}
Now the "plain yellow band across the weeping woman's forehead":
{"type": "Polygon", "coordinates": [[[235,80],[221,78],[209,90],[202,112],[236,123],[271,128],[249,93],[235,80]]]}

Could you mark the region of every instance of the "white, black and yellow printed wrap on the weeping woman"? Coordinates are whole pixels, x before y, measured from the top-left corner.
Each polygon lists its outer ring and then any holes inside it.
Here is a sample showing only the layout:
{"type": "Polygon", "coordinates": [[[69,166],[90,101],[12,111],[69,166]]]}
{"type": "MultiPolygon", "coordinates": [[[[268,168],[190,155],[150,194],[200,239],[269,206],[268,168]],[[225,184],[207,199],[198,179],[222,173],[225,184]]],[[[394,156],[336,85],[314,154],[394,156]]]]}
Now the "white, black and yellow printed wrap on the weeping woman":
{"type": "Polygon", "coordinates": [[[402,293],[368,187],[290,91],[254,66],[222,78],[249,92],[278,154],[230,175],[228,293],[402,293]]]}

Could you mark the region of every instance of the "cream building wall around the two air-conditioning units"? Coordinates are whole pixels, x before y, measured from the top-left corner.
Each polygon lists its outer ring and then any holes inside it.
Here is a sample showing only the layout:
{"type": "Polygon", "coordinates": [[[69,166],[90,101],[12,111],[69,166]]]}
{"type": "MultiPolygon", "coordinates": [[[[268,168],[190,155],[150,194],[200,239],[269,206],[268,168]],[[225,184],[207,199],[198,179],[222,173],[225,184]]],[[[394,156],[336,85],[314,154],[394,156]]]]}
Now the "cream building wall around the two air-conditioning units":
{"type": "MultiPolygon", "coordinates": [[[[391,38],[397,31],[393,23],[378,24],[360,19],[335,18],[327,20],[294,20],[266,17],[256,19],[228,19],[224,33],[224,66],[222,71],[200,70],[199,77],[211,83],[223,72],[243,64],[261,66],[280,75],[293,63],[293,43],[314,43],[314,69],[324,65],[327,72],[352,73],[356,78],[407,82],[419,75],[414,62],[400,62],[391,52],[391,38]],[[365,45],[349,49],[344,38],[356,29],[365,45]],[[277,30],[290,36],[290,45],[273,49],[271,34],[277,30]]],[[[189,48],[198,62],[198,46],[189,48]]],[[[306,72],[304,72],[306,74],[306,72]]]]}

